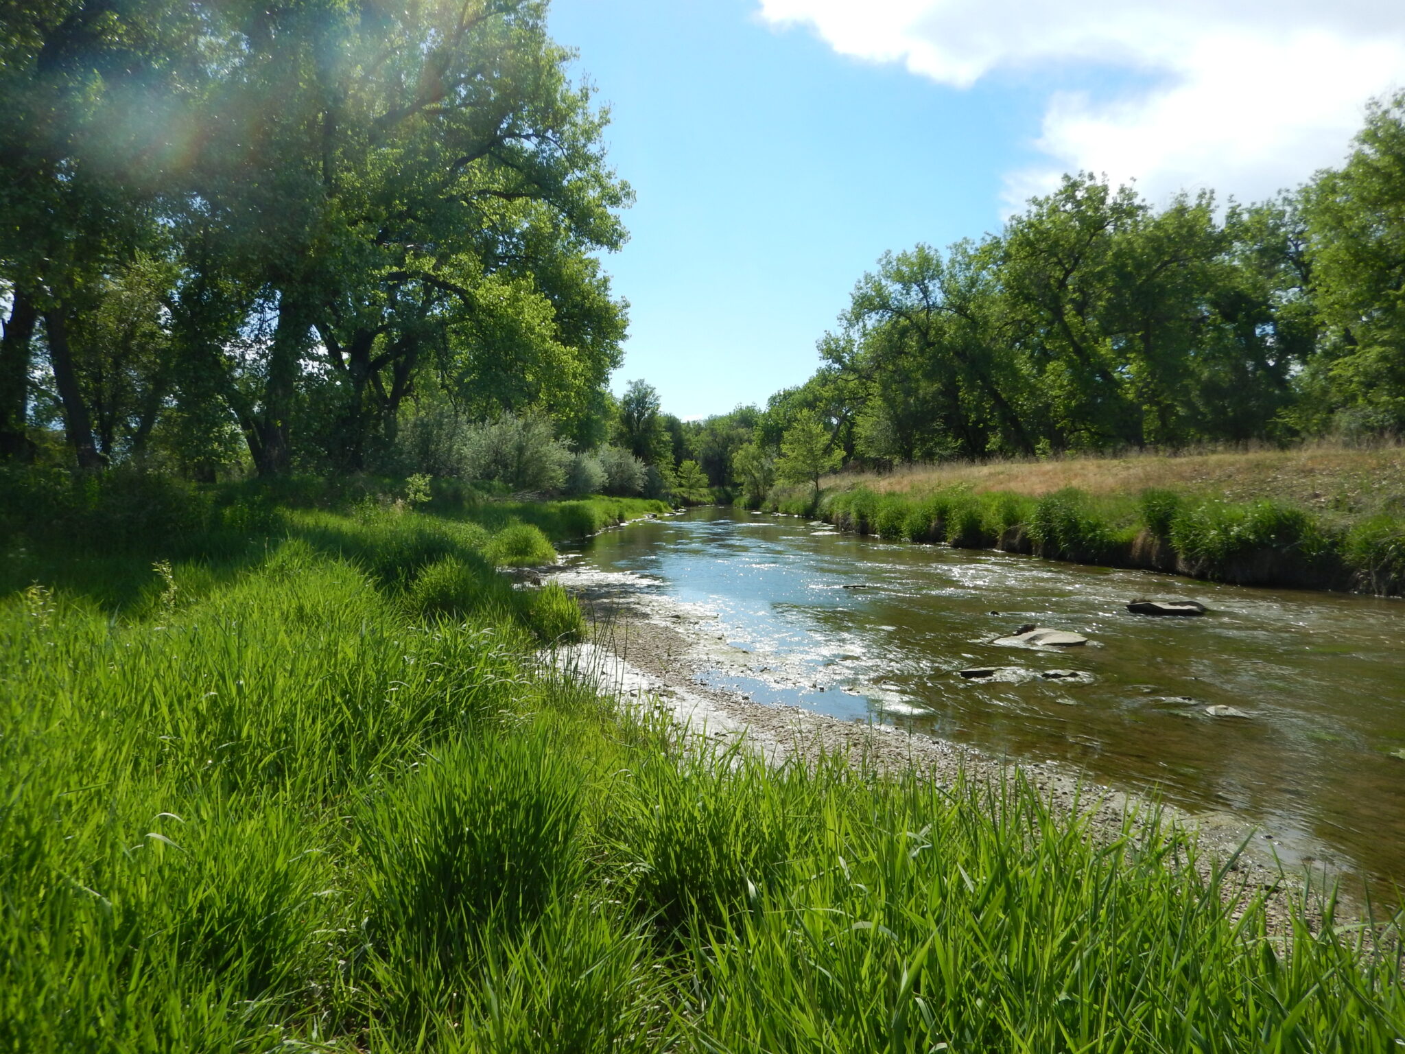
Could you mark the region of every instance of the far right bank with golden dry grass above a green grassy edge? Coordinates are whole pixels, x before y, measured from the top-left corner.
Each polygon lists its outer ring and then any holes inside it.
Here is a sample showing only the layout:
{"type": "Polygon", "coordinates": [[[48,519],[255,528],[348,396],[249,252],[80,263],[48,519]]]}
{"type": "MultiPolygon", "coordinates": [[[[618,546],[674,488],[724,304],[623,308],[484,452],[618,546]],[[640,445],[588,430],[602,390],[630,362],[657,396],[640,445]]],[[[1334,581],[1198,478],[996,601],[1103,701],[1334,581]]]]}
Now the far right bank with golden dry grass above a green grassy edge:
{"type": "Polygon", "coordinates": [[[1405,451],[927,467],[777,490],[842,530],[1241,585],[1405,593],[1405,451]]]}

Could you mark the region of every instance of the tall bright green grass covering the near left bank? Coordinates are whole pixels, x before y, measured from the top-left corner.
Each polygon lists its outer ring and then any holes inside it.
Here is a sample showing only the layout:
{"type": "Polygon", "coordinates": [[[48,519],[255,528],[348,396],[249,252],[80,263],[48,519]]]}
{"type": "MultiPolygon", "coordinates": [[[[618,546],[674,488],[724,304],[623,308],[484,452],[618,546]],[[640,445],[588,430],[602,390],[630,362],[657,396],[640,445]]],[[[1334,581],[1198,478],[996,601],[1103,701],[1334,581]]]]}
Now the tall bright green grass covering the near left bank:
{"type": "Polygon", "coordinates": [[[1405,1036],[1398,960],[1235,918],[1175,832],[1094,842],[1017,780],[766,769],[554,672],[579,611],[492,568],[586,512],[226,507],[146,582],[96,576],[152,538],[21,538],[62,587],[0,601],[0,1048],[1405,1036]]]}

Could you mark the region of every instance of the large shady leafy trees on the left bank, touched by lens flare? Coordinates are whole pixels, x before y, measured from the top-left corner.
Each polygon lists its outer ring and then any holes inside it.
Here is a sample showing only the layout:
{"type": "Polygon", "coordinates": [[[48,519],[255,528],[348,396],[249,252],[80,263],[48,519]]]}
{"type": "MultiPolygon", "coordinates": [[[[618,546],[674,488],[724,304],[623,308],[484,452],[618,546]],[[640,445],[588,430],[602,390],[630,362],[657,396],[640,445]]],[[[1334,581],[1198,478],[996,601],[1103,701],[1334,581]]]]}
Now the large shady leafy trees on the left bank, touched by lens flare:
{"type": "Polygon", "coordinates": [[[0,20],[0,457],[374,471],[412,405],[603,438],[629,187],[541,0],[0,20]]]}

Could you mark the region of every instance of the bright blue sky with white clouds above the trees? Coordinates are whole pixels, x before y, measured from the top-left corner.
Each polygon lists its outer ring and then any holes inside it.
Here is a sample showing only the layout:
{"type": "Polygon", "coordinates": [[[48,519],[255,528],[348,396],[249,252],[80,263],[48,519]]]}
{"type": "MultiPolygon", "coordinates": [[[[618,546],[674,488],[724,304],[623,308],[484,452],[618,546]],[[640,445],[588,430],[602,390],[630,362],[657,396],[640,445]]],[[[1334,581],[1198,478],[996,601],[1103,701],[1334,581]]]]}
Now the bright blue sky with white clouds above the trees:
{"type": "Polygon", "coordinates": [[[888,250],[999,230],[1064,171],[1255,201],[1405,86],[1378,0],[552,0],[635,191],[614,389],[684,419],[818,367],[888,250]]]}

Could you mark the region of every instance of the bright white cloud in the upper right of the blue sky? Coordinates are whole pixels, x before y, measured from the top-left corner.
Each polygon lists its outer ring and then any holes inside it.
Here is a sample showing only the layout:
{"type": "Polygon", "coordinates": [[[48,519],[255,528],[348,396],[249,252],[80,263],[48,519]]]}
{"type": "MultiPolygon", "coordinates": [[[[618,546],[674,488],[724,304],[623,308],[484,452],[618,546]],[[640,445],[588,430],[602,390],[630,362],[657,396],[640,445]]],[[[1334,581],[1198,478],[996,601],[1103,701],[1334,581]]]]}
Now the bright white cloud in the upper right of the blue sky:
{"type": "Polygon", "coordinates": [[[1006,174],[1012,207],[1079,169],[1137,178],[1158,201],[1203,187],[1262,198],[1338,163],[1367,98],[1405,80],[1398,1],[760,0],[760,15],[955,89],[1087,65],[1154,84],[1051,93],[1047,160],[1006,174]]]}

